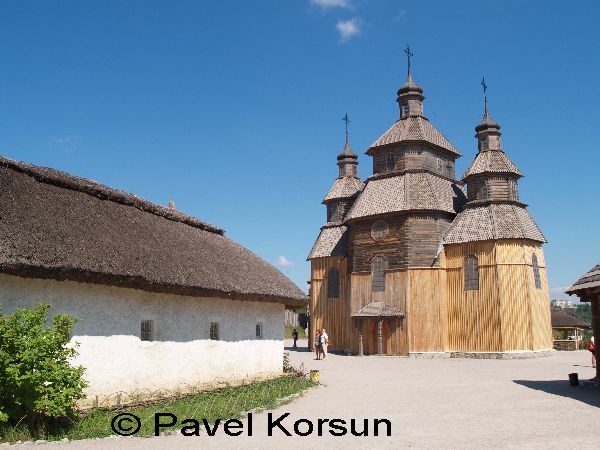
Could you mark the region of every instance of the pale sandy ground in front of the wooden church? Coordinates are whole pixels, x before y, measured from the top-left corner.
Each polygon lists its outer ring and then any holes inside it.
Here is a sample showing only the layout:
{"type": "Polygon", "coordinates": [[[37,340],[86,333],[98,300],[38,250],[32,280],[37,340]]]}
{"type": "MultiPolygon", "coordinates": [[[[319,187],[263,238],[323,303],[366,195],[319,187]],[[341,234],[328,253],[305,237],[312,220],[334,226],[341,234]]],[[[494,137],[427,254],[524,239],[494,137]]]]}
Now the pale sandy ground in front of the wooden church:
{"type": "MultiPolygon", "coordinates": [[[[286,344],[289,344],[286,342],[286,344]]],[[[253,436],[181,435],[51,443],[44,448],[600,448],[600,389],[570,387],[568,374],[593,376],[590,354],[559,352],[550,358],[496,361],[415,360],[330,355],[315,361],[291,351],[294,364],[319,369],[322,386],[273,411],[290,415],[284,426],[309,419],[309,436],[267,434],[267,412],[255,414],[253,436]],[[370,420],[369,436],[335,437],[317,419],[370,420]],[[373,436],[373,419],[388,419],[392,434],[373,436]]],[[[300,431],[306,430],[303,424],[300,431]]],[[[348,433],[349,434],[349,433],[348,433]]]]}

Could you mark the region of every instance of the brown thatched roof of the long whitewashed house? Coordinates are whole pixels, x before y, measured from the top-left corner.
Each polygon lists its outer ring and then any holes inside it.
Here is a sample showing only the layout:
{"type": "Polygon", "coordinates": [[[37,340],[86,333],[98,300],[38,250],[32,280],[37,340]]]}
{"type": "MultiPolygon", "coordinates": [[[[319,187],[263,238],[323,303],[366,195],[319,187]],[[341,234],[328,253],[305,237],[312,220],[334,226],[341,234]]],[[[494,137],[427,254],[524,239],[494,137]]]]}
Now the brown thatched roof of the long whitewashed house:
{"type": "Polygon", "coordinates": [[[0,272],[151,292],[306,304],[285,275],[179,211],[0,157],[0,272]]]}

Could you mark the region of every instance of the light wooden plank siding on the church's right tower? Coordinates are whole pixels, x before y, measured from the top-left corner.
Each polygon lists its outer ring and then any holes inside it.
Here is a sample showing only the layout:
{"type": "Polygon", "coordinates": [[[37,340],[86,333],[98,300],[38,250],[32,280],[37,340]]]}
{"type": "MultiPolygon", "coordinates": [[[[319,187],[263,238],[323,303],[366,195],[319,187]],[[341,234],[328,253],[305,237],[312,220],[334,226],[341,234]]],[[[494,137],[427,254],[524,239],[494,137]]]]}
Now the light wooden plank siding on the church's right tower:
{"type": "Polygon", "coordinates": [[[452,351],[501,352],[552,348],[548,282],[543,251],[522,240],[446,246],[448,344],[452,351]],[[542,288],[536,289],[532,255],[542,288]],[[479,262],[479,290],[464,290],[464,257],[479,262]]]}

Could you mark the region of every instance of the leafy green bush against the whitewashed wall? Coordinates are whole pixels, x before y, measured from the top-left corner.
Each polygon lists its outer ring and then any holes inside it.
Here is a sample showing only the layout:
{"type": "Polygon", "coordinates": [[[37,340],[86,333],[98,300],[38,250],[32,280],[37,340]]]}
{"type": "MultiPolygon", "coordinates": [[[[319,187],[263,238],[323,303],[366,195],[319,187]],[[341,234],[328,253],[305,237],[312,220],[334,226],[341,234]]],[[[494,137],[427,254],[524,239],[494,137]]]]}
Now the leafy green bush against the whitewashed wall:
{"type": "Polygon", "coordinates": [[[0,422],[33,426],[67,416],[84,397],[84,368],[69,364],[77,352],[67,345],[76,319],[58,314],[48,325],[50,307],[0,311],[0,422]]]}

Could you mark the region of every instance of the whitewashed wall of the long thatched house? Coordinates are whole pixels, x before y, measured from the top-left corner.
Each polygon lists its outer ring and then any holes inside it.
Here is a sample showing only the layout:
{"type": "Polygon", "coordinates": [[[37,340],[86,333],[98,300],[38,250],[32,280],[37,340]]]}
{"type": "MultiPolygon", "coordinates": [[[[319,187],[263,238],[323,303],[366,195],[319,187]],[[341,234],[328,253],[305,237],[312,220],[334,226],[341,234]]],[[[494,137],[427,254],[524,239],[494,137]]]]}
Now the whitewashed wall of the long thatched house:
{"type": "Polygon", "coordinates": [[[52,315],[80,319],[71,342],[86,367],[88,397],[138,389],[177,389],[215,381],[268,377],[282,371],[284,306],[276,303],[154,294],[137,289],[37,280],[0,274],[0,308],[39,302],[52,315]],[[151,320],[153,341],[141,341],[151,320]],[[219,340],[209,339],[210,323],[219,340]],[[263,337],[256,337],[256,324],[263,337]]]}

